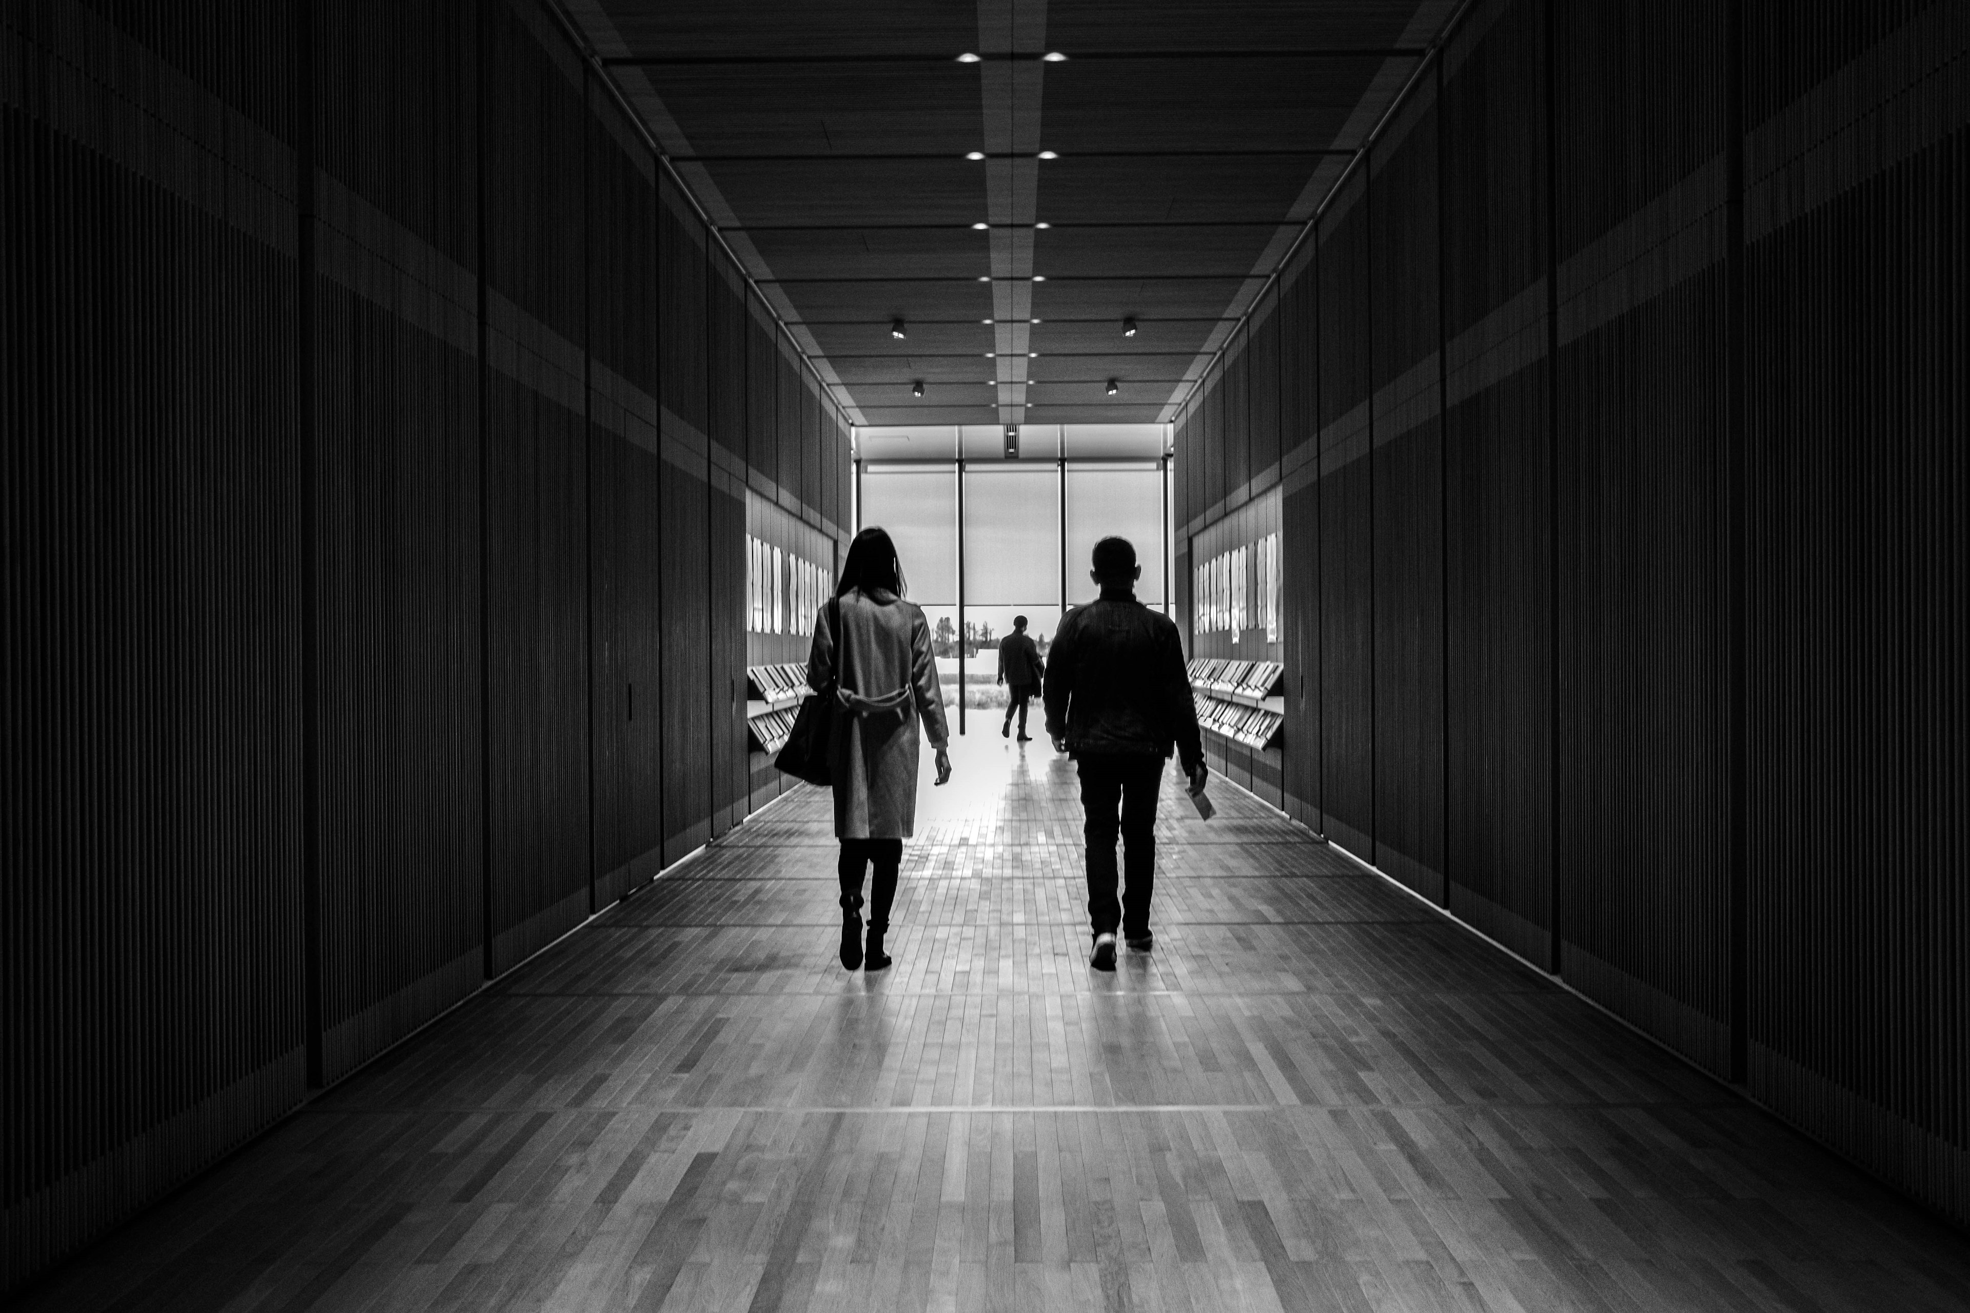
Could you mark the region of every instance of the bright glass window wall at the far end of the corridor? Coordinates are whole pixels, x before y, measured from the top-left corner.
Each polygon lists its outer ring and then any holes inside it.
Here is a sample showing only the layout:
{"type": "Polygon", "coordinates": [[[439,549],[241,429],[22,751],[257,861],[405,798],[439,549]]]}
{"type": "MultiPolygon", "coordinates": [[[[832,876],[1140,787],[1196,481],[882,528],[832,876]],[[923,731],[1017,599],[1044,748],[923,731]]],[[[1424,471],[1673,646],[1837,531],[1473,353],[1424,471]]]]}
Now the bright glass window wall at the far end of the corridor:
{"type": "Polygon", "coordinates": [[[1013,632],[1015,616],[1026,616],[1044,656],[1064,608],[1095,596],[1087,569],[1101,537],[1135,543],[1143,567],[1137,598],[1168,612],[1168,429],[1085,429],[1024,425],[1017,445],[989,425],[975,433],[857,429],[857,528],[879,524],[896,539],[910,600],[930,620],[944,701],[953,709],[959,687],[965,709],[1005,707],[1005,689],[995,683],[999,640],[1013,632]],[[950,459],[924,461],[938,447],[950,459]],[[1017,455],[1005,455],[1009,447],[1017,455]],[[959,453],[971,459],[959,461],[959,453]]]}

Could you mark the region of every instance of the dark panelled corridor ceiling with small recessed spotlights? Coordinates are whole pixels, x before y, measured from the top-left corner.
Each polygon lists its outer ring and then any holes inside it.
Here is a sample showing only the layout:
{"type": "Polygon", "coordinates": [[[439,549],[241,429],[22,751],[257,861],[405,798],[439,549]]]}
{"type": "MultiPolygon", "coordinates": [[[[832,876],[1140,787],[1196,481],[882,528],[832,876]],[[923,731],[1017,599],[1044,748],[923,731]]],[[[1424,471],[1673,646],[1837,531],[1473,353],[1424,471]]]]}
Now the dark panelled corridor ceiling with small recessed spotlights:
{"type": "Polygon", "coordinates": [[[1318,201],[1316,175],[1342,167],[1338,152],[1414,67],[1395,47],[1420,45],[1416,31],[1450,6],[571,8],[613,69],[654,89],[636,100],[664,116],[652,132],[693,187],[717,193],[709,209],[735,250],[863,419],[993,425],[1158,419],[1318,201]],[[969,49],[987,59],[957,63],[969,49]],[[1068,59],[1038,63],[1042,49],[1068,59]],[[1013,142],[1011,161],[963,157],[1013,142]],[[1050,226],[973,230],[993,205],[1050,226]],[[981,323],[1001,311],[1018,319],[981,323]],[[1125,315],[1135,337],[1121,335],[1125,315]],[[900,343],[888,337],[896,317],[900,343]],[[912,380],[926,396],[910,396],[912,380]],[[1022,415],[999,409],[1018,404],[1022,415]]]}

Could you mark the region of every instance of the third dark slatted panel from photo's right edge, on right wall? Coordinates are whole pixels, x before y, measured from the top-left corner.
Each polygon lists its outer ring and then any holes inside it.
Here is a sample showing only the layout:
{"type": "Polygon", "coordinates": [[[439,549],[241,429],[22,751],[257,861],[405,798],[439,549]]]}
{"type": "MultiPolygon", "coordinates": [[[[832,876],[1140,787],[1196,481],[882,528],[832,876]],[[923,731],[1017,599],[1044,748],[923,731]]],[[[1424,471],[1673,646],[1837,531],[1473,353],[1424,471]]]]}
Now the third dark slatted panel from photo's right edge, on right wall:
{"type": "Polygon", "coordinates": [[[1552,959],[1552,512],[1541,6],[1444,51],[1444,659],[1450,909],[1552,959]]]}

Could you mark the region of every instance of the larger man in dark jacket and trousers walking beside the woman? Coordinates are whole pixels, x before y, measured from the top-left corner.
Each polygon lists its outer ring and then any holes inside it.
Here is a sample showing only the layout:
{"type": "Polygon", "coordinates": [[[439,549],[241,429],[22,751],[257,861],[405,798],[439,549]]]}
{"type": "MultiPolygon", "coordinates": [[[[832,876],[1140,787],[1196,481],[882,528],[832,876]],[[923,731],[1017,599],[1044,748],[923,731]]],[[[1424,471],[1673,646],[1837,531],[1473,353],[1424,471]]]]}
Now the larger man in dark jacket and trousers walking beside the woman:
{"type": "Polygon", "coordinates": [[[1176,624],[1135,600],[1143,567],[1125,537],[1095,543],[1091,579],[1101,600],[1070,610],[1046,669],[1046,732],[1080,764],[1087,815],[1087,919],[1091,967],[1115,970],[1115,927],[1149,953],[1149,900],[1156,870],[1156,791],[1174,746],[1190,793],[1204,791],[1204,740],[1176,624]],[[1117,821],[1117,805],[1121,817],[1117,821]],[[1115,835],[1127,846],[1129,882],[1115,902],[1115,835]]]}

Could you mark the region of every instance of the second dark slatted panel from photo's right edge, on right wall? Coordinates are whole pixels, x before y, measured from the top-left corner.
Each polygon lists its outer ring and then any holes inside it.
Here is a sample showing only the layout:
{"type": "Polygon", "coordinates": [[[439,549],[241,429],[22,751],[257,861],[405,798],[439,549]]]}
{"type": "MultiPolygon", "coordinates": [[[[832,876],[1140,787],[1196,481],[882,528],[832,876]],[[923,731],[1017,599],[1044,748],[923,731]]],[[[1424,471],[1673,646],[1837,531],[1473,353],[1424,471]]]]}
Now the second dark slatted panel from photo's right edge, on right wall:
{"type": "Polygon", "coordinates": [[[1728,1077],[1726,18],[1560,4],[1552,67],[1560,969],[1728,1077]]]}

